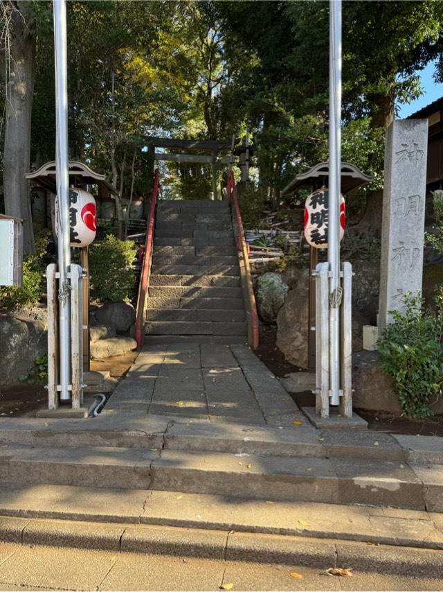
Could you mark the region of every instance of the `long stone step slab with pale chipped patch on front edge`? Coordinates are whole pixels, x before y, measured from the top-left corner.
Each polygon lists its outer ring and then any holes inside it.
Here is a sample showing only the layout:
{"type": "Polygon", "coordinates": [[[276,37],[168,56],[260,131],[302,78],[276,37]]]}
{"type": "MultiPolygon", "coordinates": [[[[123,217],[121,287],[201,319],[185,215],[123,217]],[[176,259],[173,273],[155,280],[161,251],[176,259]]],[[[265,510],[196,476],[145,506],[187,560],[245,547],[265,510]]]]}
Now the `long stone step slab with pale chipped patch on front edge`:
{"type": "MultiPolygon", "coordinates": [[[[243,499],[366,504],[425,510],[424,487],[394,462],[235,456],[164,450],[151,489],[243,499]]],[[[443,485],[439,489],[443,494],[443,485]]],[[[437,499],[436,491],[434,497],[437,499]]],[[[441,499],[441,498],[440,498],[441,499]]]]}

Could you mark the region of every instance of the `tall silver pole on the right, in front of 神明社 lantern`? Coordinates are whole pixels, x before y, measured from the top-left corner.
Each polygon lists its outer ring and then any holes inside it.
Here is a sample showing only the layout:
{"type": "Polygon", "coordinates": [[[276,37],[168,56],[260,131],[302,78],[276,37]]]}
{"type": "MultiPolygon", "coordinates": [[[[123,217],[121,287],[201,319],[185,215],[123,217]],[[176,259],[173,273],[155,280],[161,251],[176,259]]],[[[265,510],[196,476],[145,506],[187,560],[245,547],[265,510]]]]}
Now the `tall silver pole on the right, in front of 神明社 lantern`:
{"type": "Polygon", "coordinates": [[[340,389],[340,239],[341,180],[341,0],[329,0],[329,396],[338,405],[340,389]]]}

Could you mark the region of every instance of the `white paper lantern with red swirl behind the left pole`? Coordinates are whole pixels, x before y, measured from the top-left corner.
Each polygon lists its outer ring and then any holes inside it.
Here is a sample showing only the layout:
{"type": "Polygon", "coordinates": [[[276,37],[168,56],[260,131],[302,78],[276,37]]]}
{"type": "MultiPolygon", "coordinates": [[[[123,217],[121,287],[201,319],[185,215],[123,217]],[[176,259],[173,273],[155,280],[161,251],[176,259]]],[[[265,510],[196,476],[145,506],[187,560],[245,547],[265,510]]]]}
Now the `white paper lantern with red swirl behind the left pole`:
{"type": "MultiPolygon", "coordinates": [[[[55,235],[58,236],[58,202],[55,198],[55,235]]],[[[93,195],[84,189],[69,189],[71,247],[87,247],[96,238],[97,210],[93,195]]]]}

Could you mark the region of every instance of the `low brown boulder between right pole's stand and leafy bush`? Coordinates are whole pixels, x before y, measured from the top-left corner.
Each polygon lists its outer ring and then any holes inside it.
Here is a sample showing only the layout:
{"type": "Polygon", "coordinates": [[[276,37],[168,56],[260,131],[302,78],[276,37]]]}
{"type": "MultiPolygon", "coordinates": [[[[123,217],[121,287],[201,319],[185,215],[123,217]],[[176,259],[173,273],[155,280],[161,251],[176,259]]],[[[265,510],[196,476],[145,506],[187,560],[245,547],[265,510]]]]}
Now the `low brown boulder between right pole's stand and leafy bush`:
{"type": "MultiPolygon", "coordinates": [[[[402,413],[392,378],[383,372],[378,351],[361,351],[352,357],[352,406],[356,409],[402,413]]],[[[436,415],[443,413],[443,399],[431,405],[436,415]]]]}

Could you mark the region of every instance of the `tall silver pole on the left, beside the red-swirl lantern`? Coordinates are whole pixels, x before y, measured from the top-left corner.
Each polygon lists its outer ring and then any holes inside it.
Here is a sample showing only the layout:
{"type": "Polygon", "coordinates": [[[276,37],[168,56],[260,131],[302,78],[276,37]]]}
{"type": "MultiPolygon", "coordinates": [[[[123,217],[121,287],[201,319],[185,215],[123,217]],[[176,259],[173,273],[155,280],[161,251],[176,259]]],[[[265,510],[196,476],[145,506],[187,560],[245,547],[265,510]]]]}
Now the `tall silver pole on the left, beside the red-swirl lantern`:
{"type": "Polygon", "coordinates": [[[71,246],[69,228],[69,170],[68,170],[68,60],[66,42],[66,0],[53,1],[55,49],[55,164],[57,169],[58,201],[58,270],[59,327],[60,327],[60,400],[71,398],[71,311],[69,279],[71,246]]]}

